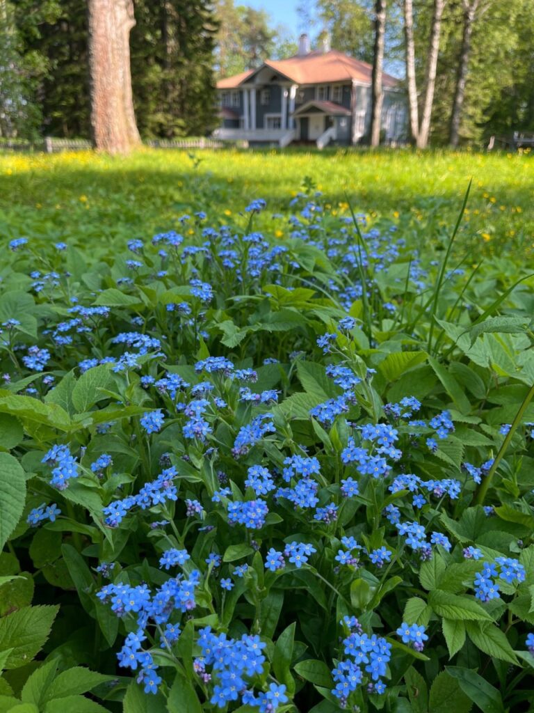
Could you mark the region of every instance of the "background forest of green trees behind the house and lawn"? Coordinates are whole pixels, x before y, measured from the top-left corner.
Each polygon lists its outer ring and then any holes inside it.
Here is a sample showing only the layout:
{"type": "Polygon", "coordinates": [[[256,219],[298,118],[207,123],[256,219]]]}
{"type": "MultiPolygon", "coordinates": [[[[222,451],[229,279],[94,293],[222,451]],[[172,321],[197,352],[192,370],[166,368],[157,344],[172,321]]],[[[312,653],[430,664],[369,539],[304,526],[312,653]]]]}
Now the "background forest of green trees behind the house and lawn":
{"type": "MultiPolygon", "coordinates": [[[[375,16],[386,2],[315,0],[299,9],[316,45],[374,60],[375,16]]],[[[390,0],[384,68],[406,76],[405,15],[390,0]]],[[[481,143],[493,133],[534,129],[534,0],[414,0],[414,72],[424,88],[429,39],[441,6],[434,145],[481,143]],[[459,86],[461,106],[454,106],[459,86]],[[459,111],[458,111],[459,110],[459,111]]],[[[217,124],[219,76],[295,53],[296,34],[234,0],[135,0],[132,90],[142,138],[206,135],[217,124]]],[[[419,113],[424,103],[419,91],[419,113]]],[[[0,0],[0,136],[88,137],[88,22],[83,0],[0,0]]]]}

